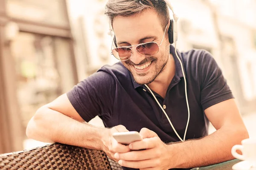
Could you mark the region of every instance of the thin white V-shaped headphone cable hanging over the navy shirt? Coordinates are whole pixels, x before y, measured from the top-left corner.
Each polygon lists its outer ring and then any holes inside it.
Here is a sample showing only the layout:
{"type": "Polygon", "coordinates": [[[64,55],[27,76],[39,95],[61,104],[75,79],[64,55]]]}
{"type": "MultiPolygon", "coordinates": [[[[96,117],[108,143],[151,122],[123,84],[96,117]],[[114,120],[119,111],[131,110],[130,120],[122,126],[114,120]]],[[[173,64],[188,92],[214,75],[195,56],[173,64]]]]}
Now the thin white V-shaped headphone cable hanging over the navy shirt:
{"type": "Polygon", "coordinates": [[[183,74],[183,77],[184,77],[184,83],[185,83],[185,96],[186,96],[186,104],[187,104],[187,108],[188,108],[188,121],[187,121],[187,124],[186,124],[186,130],[185,130],[185,133],[184,133],[184,137],[183,139],[181,139],[180,135],[177,133],[177,131],[175,130],[174,126],[172,125],[172,122],[171,120],[169,119],[166,111],[163,109],[163,107],[160,105],[160,103],[158,102],[157,98],[155,97],[155,95],[153,94],[153,92],[151,91],[151,89],[148,87],[148,85],[145,85],[146,88],[148,88],[148,90],[150,91],[150,93],[152,94],[152,96],[154,97],[155,101],[157,102],[157,104],[159,105],[159,107],[162,109],[163,113],[166,115],[166,118],[168,119],[170,125],[172,126],[172,129],[174,130],[175,134],[177,135],[177,137],[180,139],[181,142],[185,142],[185,139],[186,139],[186,132],[187,132],[187,129],[188,129],[188,126],[189,126],[189,119],[190,119],[190,111],[189,111],[189,101],[188,101],[188,95],[187,95],[187,86],[186,86],[186,77],[185,77],[185,72],[184,72],[184,69],[183,69],[183,64],[180,60],[180,58],[178,57],[178,54],[177,54],[177,48],[176,48],[176,42],[175,42],[175,54],[176,54],[176,57],[177,59],[179,60],[180,62],[180,65],[181,65],[181,70],[182,70],[182,74],[183,74]]]}

